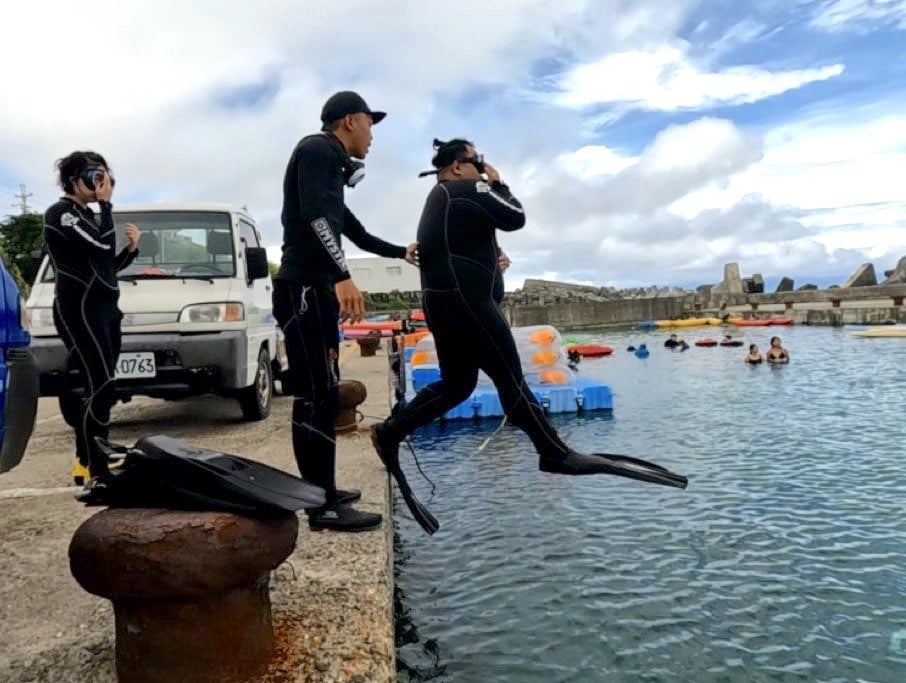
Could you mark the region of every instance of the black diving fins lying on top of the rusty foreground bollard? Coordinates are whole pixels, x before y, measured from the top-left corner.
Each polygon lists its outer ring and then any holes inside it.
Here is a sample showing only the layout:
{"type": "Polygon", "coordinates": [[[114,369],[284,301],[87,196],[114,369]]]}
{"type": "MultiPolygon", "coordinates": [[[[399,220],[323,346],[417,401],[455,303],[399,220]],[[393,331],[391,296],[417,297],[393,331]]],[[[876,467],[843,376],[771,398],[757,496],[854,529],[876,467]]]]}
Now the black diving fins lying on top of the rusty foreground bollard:
{"type": "Polygon", "coordinates": [[[133,447],[96,439],[108,454],[125,453],[93,505],[211,510],[247,515],[294,513],[321,507],[324,489],[287,472],[238,455],[149,436],[133,447]]]}

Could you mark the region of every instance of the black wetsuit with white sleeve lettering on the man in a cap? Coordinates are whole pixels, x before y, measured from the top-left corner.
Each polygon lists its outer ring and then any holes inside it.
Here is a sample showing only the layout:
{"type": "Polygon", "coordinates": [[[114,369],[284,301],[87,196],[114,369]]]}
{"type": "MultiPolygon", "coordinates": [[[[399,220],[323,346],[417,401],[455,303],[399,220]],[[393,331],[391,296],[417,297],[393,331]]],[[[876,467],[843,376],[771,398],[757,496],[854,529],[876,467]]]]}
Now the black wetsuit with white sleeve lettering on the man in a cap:
{"type": "Polygon", "coordinates": [[[365,251],[404,258],[405,247],[369,234],[343,201],[350,163],[329,134],[303,138],[283,181],[283,258],[274,278],[274,316],[286,338],[293,451],[302,476],[336,491],[334,420],[339,368],[337,282],[348,280],[342,235],[365,251]]]}

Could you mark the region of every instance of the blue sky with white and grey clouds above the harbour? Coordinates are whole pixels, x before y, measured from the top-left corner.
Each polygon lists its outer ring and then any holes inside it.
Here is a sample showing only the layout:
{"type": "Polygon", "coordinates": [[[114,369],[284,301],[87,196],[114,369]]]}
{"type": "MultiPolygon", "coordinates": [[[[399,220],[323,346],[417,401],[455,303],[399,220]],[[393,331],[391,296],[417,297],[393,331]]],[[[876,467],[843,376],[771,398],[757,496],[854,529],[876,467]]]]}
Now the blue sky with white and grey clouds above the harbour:
{"type": "Polygon", "coordinates": [[[278,260],[289,154],[354,89],[388,117],[349,207],[414,240],[432,140],[473,140],[526,210],[509,290],[906,255],[906,0],[32,0],[0,58],[0,214],[94,149],[115,204],[246,205],[278,260]]]}

